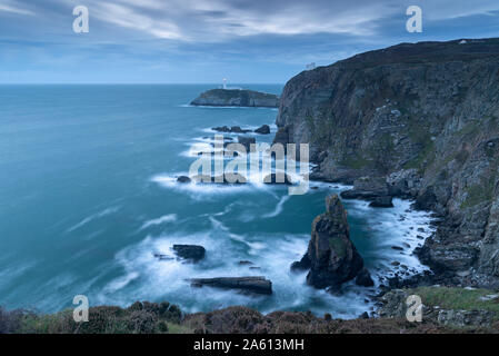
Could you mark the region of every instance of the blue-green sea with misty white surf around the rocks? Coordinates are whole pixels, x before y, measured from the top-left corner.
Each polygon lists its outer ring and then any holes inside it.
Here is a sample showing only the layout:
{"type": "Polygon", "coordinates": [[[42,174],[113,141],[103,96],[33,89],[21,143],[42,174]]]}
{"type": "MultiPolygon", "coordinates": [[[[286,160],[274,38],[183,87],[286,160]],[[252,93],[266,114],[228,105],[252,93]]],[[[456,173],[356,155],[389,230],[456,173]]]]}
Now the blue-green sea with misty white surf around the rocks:
{"type": "MultiPolygon", "coordinates": [[[[350,283],[331,296],[289,271],[325,197],[345,187],[312,182],[319,189],[288,196],[278,186],[174,182],[194,159],[190,145],[212,136],[211,127],[269,123],[272,135],[256,136],[267,142],[276,131],[275,109],[188,106],[212,87],[0,86],[0,305],[54,312],[87,295],[91,305],[169,300],[186,312],[248,305],[347,318],[372,308],[365,299],[376,288],[350,283]],[[173,244],[202,245],[207,257],[198,265],[153,257],[171,254],[173,244]],[[186,280],[250,275],[271,279],[273,295],[191,288],[186,280]]],[[[428,235],[429,218],[409,205],[346,201],[351,238],[377,285],[393,273],[393,260],[423,268],[411,249],[422,243],[416,235],[428,235]]]]}

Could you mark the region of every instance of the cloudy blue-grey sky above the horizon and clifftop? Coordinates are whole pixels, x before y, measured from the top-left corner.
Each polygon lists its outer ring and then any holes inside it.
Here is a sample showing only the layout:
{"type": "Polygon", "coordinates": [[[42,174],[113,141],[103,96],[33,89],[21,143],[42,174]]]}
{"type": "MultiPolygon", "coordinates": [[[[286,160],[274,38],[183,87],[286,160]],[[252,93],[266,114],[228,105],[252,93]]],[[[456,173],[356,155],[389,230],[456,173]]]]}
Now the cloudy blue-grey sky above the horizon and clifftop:
{"type": "Polygon", "coordinates": [[[0,0],[0,83],[285,83],[310,62],[488,37],[499,0],[0,0]]]}

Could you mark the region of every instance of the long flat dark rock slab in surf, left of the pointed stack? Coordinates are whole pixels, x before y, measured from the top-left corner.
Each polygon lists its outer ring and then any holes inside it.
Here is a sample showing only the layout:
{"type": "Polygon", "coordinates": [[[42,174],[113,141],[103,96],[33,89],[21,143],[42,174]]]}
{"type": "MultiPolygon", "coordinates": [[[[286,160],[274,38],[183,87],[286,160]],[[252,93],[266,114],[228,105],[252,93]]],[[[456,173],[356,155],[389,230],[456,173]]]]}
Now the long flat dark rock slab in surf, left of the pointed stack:
{"type": "Polygon", "coordinates": [[[213,287],[224,289],[240,289],[257,294],[272,294],[272,283],[265,277],[218,277],[190,279],[193,287],[213,287]]]}

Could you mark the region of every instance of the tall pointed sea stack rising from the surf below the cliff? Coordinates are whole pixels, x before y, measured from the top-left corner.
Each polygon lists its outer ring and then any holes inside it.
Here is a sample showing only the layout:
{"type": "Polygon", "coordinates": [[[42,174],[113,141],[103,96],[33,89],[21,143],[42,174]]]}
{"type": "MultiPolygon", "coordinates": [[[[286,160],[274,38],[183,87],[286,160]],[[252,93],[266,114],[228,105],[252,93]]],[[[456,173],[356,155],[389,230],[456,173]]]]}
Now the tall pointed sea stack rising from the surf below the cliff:
{"type": "Polygon", "coordinates": [[[291,269],[310,269],[307,284],[337,289],[362,270],[363,260],[350,240],[347,211],[337,195],[326,198],[326,212],[312,222],[307,254],[291,269]]]}

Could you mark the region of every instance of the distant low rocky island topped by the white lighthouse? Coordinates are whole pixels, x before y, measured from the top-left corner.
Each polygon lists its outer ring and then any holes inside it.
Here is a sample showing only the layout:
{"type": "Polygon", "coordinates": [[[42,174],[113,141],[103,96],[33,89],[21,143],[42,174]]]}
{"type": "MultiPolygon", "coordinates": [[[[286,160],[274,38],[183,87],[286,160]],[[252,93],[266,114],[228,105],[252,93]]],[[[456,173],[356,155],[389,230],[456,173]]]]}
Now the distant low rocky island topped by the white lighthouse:
{"type": "Polygon", "coordinates": [[[239,89],[211,89],[192,100],[193,106],[277,108],[279,97],[273,93],[239,89]]]}

